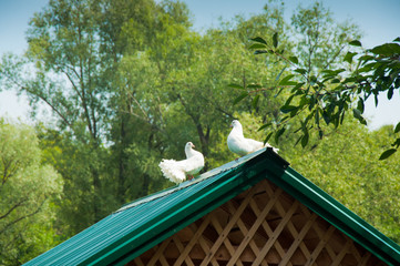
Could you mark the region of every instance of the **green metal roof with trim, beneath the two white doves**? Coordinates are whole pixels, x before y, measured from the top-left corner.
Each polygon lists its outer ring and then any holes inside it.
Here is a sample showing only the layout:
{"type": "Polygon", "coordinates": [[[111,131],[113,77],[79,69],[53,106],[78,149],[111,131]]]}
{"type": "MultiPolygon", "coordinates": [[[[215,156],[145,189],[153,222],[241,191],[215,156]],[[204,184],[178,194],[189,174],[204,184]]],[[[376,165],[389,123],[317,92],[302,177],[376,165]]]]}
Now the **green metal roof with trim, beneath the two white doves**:
{"type": "Polygon", "coordinates": [[[25,265],[124,265],[267,178],[389,265],[400,247],[264,149],[121,207],[25,265]]]}

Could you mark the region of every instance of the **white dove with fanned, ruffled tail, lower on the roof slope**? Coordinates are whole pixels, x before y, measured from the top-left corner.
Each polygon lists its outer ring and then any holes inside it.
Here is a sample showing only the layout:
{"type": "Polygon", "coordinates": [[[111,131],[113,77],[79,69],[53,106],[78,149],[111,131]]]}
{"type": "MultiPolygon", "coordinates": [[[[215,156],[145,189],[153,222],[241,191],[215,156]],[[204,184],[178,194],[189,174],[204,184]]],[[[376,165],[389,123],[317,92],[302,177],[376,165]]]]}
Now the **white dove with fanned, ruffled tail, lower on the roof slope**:
{"type": "Polygon", "coordinates": [[[187,142],[185,145],[186,160],[175,161],[163,158],[158,164],[164,176],[176,184],[186,180],[186,175],[197,174],[204,167],[204,156],[201,152],[193,150],[195,145],[187,142]]]}

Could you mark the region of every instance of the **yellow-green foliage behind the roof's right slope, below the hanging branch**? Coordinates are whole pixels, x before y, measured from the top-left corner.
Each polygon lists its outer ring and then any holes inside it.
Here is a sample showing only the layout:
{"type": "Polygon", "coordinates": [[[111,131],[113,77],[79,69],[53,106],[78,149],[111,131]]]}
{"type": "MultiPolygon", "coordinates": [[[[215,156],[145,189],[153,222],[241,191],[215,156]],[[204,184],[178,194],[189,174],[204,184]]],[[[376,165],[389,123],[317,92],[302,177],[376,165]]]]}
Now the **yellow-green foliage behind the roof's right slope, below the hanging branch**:
{"type": "Polygon", "coordinates": [[[312,149],[290,145],[284,153],[296,171],[400,243],[399,154],[376,160],[392,134],[390,126],[369,132],[345,119],[335,134],[312,140],[312,149]]]}

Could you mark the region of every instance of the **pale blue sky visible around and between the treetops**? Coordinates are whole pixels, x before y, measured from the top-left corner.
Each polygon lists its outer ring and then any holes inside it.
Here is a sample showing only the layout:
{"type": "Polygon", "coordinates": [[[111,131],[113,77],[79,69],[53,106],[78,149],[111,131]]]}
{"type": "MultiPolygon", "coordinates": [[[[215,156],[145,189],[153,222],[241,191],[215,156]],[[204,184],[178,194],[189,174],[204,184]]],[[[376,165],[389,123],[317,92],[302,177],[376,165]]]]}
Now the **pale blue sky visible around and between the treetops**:
{"type": "MultiPolygon", "coordinates": [[[[204,31],[218,25],[219,18],[230,20],[236,14],[249,18],[263,12],[267,0],[184,0],[193,14],[193,28],[204,31]]],[[[286,0],[286,19],[301,3],[302,7],[312,4],[312,0],[286,0]]],[[[342,22],[351,20],[358,24],[363,33],[361,42],[365,48],[372,48],[390,42],[400,37],[400,0],[322,0],[334,18],[342,22]]],[[[22,54],[27,49],[25,31],[30,18],[42,10],[48,0],[0,0],[0,55],[6,52],[22,54]]],[[[18,98],[12,91],[0,92],[0,116],[20,117],[32,123],[29,119],[29,104],[25,99],[18,98]]],[[[366,104],[365,115],[369,121],[369,129],[375,130],[384,124],[400,122],[400,95],[394,93],[391,101],[386,95],[379,98],[379,105],[375,108],[373,100],[366,104]]]]}

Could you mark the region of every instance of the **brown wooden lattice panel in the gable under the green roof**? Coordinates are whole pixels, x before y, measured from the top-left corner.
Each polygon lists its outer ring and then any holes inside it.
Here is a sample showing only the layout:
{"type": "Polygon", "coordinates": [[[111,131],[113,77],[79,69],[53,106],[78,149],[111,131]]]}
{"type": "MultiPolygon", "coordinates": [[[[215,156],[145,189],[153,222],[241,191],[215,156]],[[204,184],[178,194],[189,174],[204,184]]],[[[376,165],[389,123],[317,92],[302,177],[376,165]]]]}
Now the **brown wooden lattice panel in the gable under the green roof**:
{"type": "Polygon", "coordinates": [[[269,181],[127,265],[384,265],[269,181]]]}

